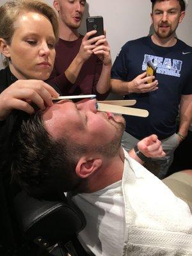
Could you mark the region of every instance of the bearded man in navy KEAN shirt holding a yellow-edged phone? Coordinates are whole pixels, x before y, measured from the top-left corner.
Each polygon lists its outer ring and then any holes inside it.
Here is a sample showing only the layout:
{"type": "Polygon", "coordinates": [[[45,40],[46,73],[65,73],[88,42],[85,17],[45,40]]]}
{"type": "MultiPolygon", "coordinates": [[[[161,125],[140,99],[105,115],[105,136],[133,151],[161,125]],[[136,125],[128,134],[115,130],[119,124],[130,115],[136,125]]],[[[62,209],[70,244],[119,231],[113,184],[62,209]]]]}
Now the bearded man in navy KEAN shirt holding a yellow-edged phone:
{"type": "Polygon", "coordinates": [[[173,152],[188,134],[192,114],[192,48],[175,37],[185,15],[186,0],[151,0],[154,34],[127,42],[116,57],[111,86],[125,99],[136,99],[136,108],[147,109],[149,116],[125,116],[122,139],[129,150],[148,134],[161,140],[166,157],[145,159],[147,169],[160,179],[166,175],[173,152]],[[156,67],[156,77],[146,77],[147,62],[156,67]],[[152,83],[147,83],[155,79],[152,83]],[[180,104],[180,111],[179,111],[180,104]],[[176,118],[180,112],[179,132],[176,118]]]}

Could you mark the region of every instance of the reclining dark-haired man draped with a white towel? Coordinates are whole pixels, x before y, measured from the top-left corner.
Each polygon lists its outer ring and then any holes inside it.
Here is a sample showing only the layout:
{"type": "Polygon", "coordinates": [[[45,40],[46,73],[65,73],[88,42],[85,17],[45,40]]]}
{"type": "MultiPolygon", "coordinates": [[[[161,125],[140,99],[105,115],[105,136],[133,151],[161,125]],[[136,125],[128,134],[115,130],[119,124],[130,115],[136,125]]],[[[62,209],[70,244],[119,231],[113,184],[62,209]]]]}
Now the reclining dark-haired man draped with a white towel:
{"type": "Polygon", "coordinates": [[[71,191],[87,221],[79,239],[95,255],[191,255],[189,206],[125,152],[124,125],[95,100],[58,102],[22,122],[13,178],[39,198],[71,191]]]}

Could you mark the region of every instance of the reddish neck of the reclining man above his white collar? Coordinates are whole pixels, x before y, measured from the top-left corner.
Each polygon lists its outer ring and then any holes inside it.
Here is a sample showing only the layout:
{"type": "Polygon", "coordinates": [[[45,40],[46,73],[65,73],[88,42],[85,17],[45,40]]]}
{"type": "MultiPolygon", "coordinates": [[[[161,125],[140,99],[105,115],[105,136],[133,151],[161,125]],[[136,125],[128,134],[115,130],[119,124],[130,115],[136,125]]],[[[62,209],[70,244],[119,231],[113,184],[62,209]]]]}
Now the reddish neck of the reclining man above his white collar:
{"type": "Polygon", "coordinates": [[[83,180],[78,193],[93,193],[122,180],[124,159],[124,150],[121,147],[115,157],[108,159],[108,161],[103,161],[101,168],[97,172],[93,173],[88,179],[83,180]]]}

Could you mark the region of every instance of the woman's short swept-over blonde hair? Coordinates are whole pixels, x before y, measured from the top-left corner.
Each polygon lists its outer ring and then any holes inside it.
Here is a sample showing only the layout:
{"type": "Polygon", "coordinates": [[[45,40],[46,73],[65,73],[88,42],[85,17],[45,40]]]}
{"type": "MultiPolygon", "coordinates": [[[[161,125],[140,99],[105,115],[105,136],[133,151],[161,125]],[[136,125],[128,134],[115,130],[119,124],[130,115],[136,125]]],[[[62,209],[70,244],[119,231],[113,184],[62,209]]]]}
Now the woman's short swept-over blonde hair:
{"type": "MultiPolygon", "coordinates": [[[[12,42],[14,23],[24,12],[37,12],[47,17],[58,40],[58,17],[51,6],[40,0],[11,0],[0,6],[0,38],[3,38],[8,45],[12,42]]],[[[8,63],[8,58],[5,58],[4,66],[6,67],[8,63]]]]}

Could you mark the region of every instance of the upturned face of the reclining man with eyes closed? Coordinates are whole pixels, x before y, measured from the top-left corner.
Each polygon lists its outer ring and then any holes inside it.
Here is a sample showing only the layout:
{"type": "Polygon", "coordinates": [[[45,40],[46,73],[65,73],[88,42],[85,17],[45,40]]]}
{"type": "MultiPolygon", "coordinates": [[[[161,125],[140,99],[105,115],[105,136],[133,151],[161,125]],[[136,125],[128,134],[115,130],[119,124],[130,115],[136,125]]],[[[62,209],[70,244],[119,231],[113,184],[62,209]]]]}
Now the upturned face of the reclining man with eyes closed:
{"type": "Polygon", "coordinates": [[[96,100],[84,99],[74,104],[62,100],[43,114],[45,129],[54,139],[68,136],[80,145],[102,148],[111,141],[120,143],[125,120],[120,115],[97,111],[96,100]]]}

